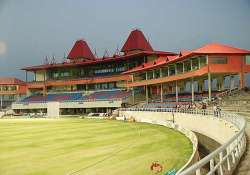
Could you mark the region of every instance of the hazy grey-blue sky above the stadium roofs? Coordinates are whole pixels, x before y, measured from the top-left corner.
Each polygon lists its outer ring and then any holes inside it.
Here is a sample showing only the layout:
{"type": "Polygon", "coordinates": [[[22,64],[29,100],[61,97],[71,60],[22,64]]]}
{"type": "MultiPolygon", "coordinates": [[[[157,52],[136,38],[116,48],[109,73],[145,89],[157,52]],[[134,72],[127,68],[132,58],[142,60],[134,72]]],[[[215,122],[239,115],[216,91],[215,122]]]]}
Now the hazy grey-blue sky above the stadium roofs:
{"type": "Polygon", "coordinates": [[[156,50],[179,52],[208,42],[250,50],[250,0],[0,0],[0,76],[58,62],[74,42],[110,55],[139,28],[156,50]]]}

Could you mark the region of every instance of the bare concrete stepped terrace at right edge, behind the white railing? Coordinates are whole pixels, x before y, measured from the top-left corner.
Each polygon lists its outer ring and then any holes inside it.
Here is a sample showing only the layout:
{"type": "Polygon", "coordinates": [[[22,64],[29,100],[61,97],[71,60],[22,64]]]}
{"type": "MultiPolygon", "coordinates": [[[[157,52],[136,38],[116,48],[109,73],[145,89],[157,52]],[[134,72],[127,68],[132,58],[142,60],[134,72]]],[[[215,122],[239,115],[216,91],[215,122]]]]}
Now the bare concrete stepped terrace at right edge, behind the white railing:
{"type": "Polygon", "coordinates": [[[247,148],[240,163],[234,171],[235,175],[250,175],[250,92],[239,91],[220,100],[221,109],[240,114],[246,118],[247,148]]]}

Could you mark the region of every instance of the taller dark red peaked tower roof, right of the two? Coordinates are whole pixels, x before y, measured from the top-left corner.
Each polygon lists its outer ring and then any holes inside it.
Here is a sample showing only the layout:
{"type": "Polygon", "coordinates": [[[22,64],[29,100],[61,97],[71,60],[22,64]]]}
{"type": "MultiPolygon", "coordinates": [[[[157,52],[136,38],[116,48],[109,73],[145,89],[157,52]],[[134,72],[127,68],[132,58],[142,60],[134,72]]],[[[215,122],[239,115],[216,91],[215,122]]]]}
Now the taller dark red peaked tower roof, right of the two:
{"type": "Polygon", "coordinates": [[[131,50],[144,50],[144,51],[153,51],[150,43],[146,40],[142,31],[136,29],[133,30],[125,44],[123,45],[121,51],[128,52],[131,50]]]}

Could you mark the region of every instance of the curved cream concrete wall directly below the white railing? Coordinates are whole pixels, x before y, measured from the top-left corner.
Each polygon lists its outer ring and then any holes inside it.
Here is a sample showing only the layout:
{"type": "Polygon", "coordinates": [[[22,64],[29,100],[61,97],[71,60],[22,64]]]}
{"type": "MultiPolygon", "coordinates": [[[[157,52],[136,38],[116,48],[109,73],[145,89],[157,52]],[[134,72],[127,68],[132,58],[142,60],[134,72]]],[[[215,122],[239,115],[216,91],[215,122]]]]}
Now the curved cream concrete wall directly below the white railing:
{"type": "MultiPolygon", "coordinates": [[[[172,121],[171,112],[119,111],[119,116],[134,117],[138,121],[172,121]]],[[[191,131],[206,135],[219,144],[226,143],[239,129],[232,123],[210,116],[174,113],[175,123],[191,131]]]]}

